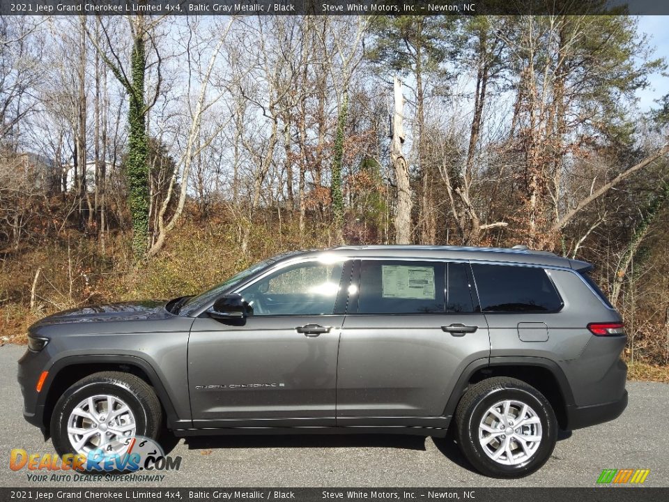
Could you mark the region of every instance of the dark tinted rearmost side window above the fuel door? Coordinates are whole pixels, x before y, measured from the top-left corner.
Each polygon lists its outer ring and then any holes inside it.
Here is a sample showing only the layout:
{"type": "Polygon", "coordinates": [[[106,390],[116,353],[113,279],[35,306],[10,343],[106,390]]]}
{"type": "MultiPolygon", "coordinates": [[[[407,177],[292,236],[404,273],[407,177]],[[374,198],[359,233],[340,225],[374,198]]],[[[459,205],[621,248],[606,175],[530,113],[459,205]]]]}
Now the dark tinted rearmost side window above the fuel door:
{"type": "Polygon", "coordinates": [[[562,299],[543,268],[472,264],[483,312],[557,312],[562,299]]]}

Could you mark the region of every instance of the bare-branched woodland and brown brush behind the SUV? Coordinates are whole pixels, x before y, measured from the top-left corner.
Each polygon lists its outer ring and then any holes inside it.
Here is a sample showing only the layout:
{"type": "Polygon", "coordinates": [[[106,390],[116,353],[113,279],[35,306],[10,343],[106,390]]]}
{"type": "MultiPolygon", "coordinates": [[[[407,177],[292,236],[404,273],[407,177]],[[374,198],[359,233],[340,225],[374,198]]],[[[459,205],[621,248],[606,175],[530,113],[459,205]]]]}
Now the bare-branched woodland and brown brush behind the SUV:
{"type": "Polygon", "coordinates": [[[2,340],[285,250],[525,244],[596,264],[631,376],[668,381],[667,54],[638,24],[0,17],[2,340]]]}

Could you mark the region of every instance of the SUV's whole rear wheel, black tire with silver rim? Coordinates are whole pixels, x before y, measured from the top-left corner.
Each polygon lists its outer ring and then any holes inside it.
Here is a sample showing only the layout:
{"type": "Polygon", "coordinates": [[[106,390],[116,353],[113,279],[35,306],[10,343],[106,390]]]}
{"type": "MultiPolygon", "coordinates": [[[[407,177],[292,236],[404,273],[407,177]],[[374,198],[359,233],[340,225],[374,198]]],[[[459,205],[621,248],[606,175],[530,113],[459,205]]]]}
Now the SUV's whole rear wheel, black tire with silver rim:
{"type": "Polygon", "coordinates": [[[455,424],[463,455],[493,478],[534,473],[551,457],[557,441],[557,420],[546,397],[509,377],[472,386],[458,404],[455,424]]]}

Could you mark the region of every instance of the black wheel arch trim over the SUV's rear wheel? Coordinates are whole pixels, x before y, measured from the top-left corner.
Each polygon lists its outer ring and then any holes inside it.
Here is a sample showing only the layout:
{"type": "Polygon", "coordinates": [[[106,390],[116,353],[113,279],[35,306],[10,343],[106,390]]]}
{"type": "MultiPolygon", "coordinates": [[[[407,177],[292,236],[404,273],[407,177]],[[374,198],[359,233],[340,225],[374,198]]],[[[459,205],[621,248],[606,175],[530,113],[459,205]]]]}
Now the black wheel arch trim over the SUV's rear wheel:
{"type": "Polygon", "coordinates": [[[535,387],[551,403],[560,428],[569,429],[567,410],[574,404],[574,395],[567,377],[555,361],[530,356],[500,356],[470,363],[458,379],[444,415],[453,416],[468,388],[491,377],[512,377],[535,387]]]}

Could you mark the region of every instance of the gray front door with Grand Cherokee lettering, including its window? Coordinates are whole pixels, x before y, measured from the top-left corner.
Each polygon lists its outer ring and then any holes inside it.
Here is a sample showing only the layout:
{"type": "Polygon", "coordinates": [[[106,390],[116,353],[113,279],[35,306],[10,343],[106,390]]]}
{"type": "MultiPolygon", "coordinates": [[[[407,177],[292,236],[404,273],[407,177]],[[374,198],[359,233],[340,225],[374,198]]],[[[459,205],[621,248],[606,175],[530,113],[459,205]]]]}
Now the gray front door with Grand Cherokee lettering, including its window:
{"type": "Polygon", "coordinates": [[[343,284],[344,266],[282,266],[238,291],[253,309],[241,325],[206,315],[194,321],[188,385],[195,427],[334,425],[338,305],[346,305],[350,277],[343,284]]]}

